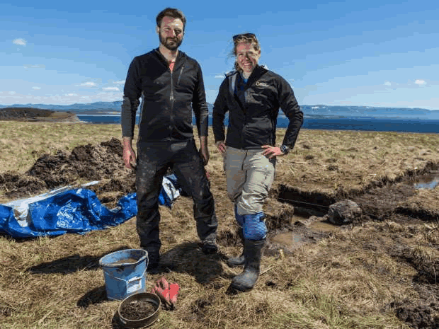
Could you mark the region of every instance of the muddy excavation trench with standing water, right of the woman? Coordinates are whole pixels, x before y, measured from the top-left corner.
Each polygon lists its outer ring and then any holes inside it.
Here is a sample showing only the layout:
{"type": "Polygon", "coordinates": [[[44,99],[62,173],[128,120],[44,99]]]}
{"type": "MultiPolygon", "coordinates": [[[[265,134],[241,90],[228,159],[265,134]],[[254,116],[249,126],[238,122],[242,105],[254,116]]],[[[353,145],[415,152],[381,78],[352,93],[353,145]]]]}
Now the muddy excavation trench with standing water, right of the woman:
{"type": "MultiPolygon", "coordinates": [[[[266,205],[269,231],[266,254],[289,255],[306,243],[315,243],[334,231],[349,229],[349,225],[334,225],[324,218],[331,204],[346,199],[362,209],[360,218],[351,225],[367,221],[394,221],[402,225],[437,222],[437,204],[418,198],[418,191],[433,190],[438,181],[439,163],[427,163],[424,168],[406,171],[394,180],[382,178],[363,190],[338,190],[335,195],[279,185],[266,205]],[[278,210],[272,212],[270,209],[278,210]]],[[[433,200],[435,198],[433,193],[433,200]]]]}

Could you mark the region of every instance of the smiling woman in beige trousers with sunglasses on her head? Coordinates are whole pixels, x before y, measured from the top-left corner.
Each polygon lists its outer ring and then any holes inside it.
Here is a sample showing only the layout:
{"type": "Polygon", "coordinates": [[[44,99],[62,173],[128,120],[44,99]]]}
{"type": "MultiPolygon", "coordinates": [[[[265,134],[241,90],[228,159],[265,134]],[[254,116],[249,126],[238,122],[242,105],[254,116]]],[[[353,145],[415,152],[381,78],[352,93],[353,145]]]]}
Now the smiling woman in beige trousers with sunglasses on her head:
{"type": "Polygon", "coordinates": [[[239,235],[244,250],[229,258],[229,266],[244,265],[231,287],[246,292],[259,276],[261,251],[266,242],[263,203],[275,173],[276,157],[294,147],[303,123],[303,113],[290,85],[278,74],[258,65],[261,46],[256,35],[233,37],[235,70],[226,74],[213,108],[213,132],[224,156],[227,195],[234,202],[239,235]],[[283,143],[275,146],[279,108],[290,123],[283,143]],[[229,112],[227,137],[224,116],[229,112]]]}

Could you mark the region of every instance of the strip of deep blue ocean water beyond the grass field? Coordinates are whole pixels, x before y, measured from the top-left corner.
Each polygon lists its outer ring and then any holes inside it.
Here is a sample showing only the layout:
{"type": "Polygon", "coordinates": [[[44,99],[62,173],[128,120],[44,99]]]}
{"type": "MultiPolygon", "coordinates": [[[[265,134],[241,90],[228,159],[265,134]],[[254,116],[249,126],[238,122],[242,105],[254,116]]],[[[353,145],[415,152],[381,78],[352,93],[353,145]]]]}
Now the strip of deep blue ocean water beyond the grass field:
{"type": "MultiPolygon", "coordinates": [[[[120,115],[77,115],[79,120],[98,124],[120,124],[120,115]]],[[[137,117],[136,123],[138,123],[137,117]]],[[[224,125],[227,126],[227,117],[224,125]]],[[[195,125],[195,118],[193,120],[195,125]]],[[[212,125],[212,117],[209,117],[212,125]]],[[[278,117],[277,127],[287,127],[286,117],[278,117]]],[[[363,130],[375,132],[439,133],[439,120],[385,117],[312,117],[305,116],[302,128],[328,130],[363,130]]]]}

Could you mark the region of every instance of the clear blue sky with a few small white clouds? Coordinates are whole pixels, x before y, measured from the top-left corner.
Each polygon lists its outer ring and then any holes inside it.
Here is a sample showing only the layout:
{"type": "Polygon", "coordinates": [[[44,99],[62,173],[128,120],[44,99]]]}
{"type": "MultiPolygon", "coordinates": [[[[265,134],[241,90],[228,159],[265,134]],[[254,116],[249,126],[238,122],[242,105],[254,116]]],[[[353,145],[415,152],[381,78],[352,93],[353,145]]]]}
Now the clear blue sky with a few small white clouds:
{"type": "Polygon", "coordinates": [[[261,59],[300,105],[439,110],[437,0],[11,1],[0,4],[0,104],[122,100],[135,56],[159,46],[157,13],[186,15],[180,50],[215,102],[232,36],[255,33],[261,59]],[[55,4],[55,5],[54,5],[55,4]]]}

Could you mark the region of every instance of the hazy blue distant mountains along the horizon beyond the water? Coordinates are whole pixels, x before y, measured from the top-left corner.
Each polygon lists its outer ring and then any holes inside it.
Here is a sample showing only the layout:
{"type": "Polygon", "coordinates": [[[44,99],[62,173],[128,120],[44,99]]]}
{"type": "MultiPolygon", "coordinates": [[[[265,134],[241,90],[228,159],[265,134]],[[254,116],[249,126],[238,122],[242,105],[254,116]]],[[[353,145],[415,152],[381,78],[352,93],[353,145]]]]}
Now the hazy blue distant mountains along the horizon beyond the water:
{"type": "MultiPolygon", "coordinates": [[[[0,105],[1,108],[38,108],[55,111],[70,111],[76,115],[81,114],[106,114],[108,112],[120,112],[122,101],[96,102],[88,104],[72,105],[47,105],[47,104],[13,104],[0,105]]],[[[208,103],[209,112],[212,112],[213,104],[208,103]]],[[[439,120],[439,110],[427,110],[423,108],[377,108],[372,106],[341,106],[341,105],[301,105],[305,117],[399,117],[418,118],[426,120],[439,120]]],[[[280,111],[280,115],[283,112],[280,111]]]]}

